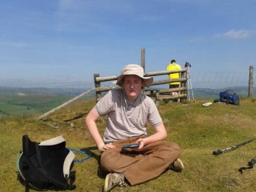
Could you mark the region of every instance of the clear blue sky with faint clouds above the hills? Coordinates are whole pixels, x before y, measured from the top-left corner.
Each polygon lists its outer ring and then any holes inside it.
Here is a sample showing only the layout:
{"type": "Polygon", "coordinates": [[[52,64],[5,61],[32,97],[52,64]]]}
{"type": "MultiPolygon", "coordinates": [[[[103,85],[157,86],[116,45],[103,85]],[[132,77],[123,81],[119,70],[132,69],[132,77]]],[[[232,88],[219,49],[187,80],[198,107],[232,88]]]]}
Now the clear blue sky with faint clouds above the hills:
{"type": "Polygon", "coordinates": [[[247,73],[256,61],[256,1],[1,1],[0,85],[93,81],[129,63],[163,71],[247,73]]]}

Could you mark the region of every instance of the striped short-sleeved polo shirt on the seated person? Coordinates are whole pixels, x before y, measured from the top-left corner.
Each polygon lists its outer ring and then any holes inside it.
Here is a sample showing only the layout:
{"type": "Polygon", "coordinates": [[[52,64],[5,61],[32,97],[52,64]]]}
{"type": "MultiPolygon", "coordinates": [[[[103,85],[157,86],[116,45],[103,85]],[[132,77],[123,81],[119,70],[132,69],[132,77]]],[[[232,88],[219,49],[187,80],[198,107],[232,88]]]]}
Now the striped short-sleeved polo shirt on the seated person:
{"type": "Polygon", "coordinates": [[[123,90],[110,90],[95,108],[99,114],[107,115],[105,143],[147,135],[147,121],[153,127],[162,123],[154,101],[142,93],[131,104],[123,90]]]}

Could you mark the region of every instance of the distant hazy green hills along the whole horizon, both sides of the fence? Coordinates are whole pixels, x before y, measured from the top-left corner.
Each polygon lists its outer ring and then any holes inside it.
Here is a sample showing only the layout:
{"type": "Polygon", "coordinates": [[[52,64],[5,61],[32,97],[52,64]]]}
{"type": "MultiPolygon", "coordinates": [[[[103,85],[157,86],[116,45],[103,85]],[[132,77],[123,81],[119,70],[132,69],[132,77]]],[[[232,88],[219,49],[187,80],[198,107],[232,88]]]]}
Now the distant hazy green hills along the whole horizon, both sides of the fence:
{"type": "MultiPolygon", "coordinates": [[[[161,88],[154,87],[151,89],[161,88]]],[[[196,88],[193,89],[193,94],[195,99],[213,99],[219,98],[219,92],[227,89],[234,90],[239,97],[247,97],[248,95],[248,87],[226,87],[223,89],[196,88]]],[[[0,87],[0,117],[5,115],[42,114],[84,93],[86,90],[88,89],[0,87]]],[[[91,93],[79,100],[86,100],[91,97],[95,97],[95,91],[91,91],[91,93]]]]}

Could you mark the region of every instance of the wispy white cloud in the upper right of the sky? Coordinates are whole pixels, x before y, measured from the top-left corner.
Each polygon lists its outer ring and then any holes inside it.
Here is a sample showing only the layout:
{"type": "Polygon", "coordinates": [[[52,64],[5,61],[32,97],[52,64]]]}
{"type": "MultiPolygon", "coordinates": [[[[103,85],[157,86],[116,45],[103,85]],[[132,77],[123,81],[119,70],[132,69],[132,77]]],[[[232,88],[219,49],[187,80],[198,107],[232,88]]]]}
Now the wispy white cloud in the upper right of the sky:
{"type": "Polygon", "coordinates": [[[255,34],[253,30],[230,30],[224,34],[217,34],[217,37],[224,37],[229,39],[247,39],[255,34]]]}

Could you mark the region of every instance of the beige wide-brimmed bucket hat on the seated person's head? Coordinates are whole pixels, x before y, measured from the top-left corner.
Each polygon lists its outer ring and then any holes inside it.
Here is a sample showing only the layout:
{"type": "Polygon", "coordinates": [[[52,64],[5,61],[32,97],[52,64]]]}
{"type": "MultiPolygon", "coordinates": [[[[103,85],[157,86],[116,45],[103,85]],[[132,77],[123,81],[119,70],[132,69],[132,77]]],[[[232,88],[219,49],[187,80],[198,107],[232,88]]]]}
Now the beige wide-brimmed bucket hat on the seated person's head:
{"type": "Polygon", "coordinates": [[[117,85],[122,87],[122,81],[125,75],[137,75],[138,77],[142,78],[142,86],[145,87],[150,87],[153,82],[153,77],[144,77],[143,68],[136,64],[129,64],[123,67],[121,75],[119,75],[117,79],[117,85]]]}

